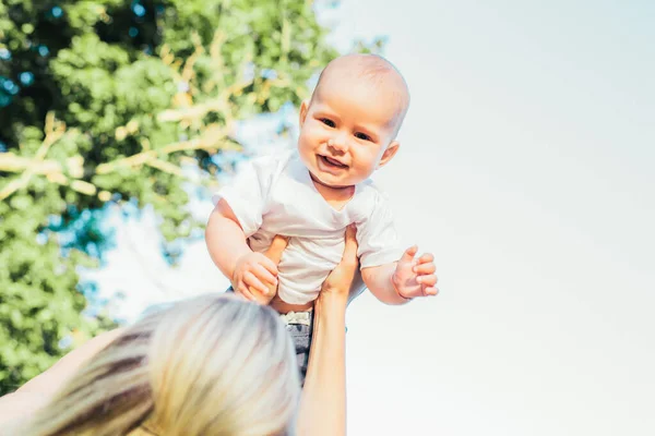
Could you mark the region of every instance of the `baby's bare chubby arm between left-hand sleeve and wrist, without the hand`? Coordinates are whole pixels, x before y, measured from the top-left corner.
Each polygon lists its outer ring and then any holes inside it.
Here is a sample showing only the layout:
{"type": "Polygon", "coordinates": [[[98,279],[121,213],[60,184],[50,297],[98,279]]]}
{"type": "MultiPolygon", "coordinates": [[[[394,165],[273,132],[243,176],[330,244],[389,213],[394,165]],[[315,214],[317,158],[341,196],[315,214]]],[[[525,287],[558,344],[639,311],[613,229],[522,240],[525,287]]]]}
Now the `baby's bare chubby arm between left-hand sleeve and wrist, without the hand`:
{"type": "Polygon", "coordinates": [[[251,250],[241,227],[218,210],[212,211],[205,230],[210,257],[228,278],[234,276],[237,261],[251,250]]]}

